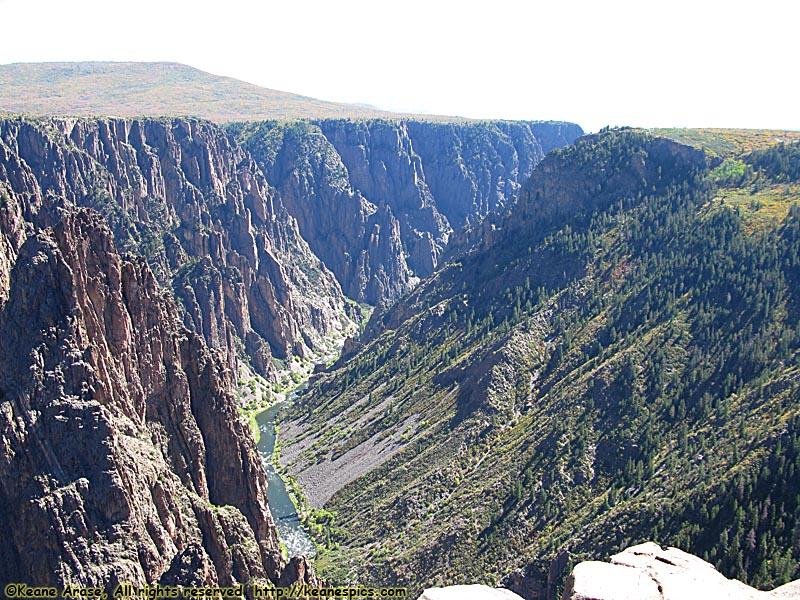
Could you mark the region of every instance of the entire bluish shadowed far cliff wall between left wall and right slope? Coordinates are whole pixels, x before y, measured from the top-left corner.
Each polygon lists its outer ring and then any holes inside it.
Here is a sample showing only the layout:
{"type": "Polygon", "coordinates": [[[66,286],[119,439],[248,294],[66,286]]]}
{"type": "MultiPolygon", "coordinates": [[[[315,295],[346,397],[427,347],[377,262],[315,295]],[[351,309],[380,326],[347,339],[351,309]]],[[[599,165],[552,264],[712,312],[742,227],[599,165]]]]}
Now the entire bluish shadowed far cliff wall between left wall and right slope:
{"type": "Polygon", "coordinates": [[[441,262],[453,231],[503,212],[567,123],[275,122],[229,127],[311,248],[359,301],[391,302],[441,262]]]}

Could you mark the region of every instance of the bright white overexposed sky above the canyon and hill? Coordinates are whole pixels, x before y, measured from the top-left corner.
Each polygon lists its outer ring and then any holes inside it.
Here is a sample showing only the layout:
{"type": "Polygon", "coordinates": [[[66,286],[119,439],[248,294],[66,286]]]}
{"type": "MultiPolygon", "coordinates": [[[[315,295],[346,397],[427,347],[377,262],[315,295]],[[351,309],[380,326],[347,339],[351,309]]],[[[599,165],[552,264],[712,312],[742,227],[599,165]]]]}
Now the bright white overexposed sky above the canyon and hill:
{"type": "Polygon", "coordinates": [[[387,110],[800,129],[800,2],[0,0],[0,64],[171,61],[387,110]]]}

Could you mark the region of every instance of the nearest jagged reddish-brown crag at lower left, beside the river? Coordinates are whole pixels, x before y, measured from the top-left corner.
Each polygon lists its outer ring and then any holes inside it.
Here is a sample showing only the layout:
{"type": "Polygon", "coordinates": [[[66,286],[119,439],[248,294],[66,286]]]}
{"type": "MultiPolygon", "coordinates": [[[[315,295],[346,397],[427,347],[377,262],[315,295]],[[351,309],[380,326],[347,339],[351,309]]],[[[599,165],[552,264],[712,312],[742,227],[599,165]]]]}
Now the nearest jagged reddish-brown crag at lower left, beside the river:
{"type": "Polygon", "coordinates": [[[234,374],[96,213],[28,237],[0,312],[0,580],[275,583],[234,374]]]}

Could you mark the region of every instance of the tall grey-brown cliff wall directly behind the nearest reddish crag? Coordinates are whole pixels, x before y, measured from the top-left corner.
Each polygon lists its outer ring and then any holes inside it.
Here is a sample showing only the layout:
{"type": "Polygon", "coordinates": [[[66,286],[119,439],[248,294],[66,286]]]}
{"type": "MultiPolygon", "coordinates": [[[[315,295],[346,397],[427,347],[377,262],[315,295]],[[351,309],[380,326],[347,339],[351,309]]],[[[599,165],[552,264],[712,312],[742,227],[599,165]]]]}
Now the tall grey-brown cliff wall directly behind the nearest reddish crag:
{"type": "Polygon", "coordinates": [[[319,350],[348,326],[338,284],[275,190],[211,123],[4,119],[0,198],[4,281],[31,231],[97,209],[231,367],[246,353],[268,374],[272,355],[319,350]]]}

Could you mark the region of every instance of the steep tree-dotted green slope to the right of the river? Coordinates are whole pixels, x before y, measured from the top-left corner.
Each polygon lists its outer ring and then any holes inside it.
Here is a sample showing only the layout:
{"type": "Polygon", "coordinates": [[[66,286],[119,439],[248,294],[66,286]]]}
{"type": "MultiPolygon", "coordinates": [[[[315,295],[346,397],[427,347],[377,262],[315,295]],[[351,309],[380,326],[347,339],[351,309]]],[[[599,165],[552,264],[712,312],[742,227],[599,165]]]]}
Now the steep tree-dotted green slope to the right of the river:
{"type": "Polygon", "coordinates": [[[314,443],[290,471],[394,452],[325,506],[339,572],[546,580],[564,548],[655,539],[757,586],[800,576],[797,149],[709,168],[621,130],[546,159],[496,240],[293,407],[314,443]],[[731,200],[756,182],[788,186],[780,209],[731,200]]]}

